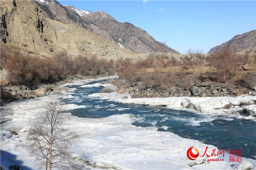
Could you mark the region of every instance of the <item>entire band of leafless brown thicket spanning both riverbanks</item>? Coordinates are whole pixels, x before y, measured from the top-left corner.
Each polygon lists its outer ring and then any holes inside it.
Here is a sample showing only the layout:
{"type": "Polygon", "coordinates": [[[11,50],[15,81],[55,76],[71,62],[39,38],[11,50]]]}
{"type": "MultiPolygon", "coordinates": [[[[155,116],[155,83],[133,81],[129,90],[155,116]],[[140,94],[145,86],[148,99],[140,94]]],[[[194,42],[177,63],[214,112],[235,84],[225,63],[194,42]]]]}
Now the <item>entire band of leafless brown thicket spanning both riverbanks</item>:
{"type": "MultiPolygon", "coordinates": [[[[54,82],[73,75],[119,72],[132,85],[140,82],[151,88],[191,82],[200,84],[205,79],[227,82],[234,76],[239,83],[239,79],[242,77],[239,78],[237,71],[241,70],[241,67],[249,59],[249,54],[244,56],[233,54],[230,46],[226,46],[208,57],[203,56],[202,51],[198,49],[189,49],[187,55],[180,59],[174,56],[169,57],[164,49],[162,51],[162,53],[150,54],[148,58],[137,62],[132,62],[129,58],[108,61],[94,55],[79,55],[71,58],[66,53],[55,53],[54,57],[36,58],[35,60],[33,57],[20,55],[8,48],[1,47],[1,66],[8,71],[11,84],[54,82]],[[204,70],[206,65],[217,70],[214,73],[204,70]]],[[[244,80],[240,82],[246,83],[244,80]]]]}

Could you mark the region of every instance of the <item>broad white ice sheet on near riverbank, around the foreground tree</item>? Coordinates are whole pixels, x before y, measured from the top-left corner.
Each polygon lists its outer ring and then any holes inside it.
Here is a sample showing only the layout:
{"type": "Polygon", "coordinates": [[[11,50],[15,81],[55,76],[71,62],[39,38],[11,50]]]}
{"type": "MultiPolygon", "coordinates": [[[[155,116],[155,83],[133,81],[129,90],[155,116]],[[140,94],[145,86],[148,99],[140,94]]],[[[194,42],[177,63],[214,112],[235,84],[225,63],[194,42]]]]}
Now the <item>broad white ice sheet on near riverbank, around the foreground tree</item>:
{"type": "MultiPolygon", "coordinates": [[[[88,81],[85,81],[88,82],[88,81]]],[[[83,84],[83,82],[77,82],[83,84]]],[[[101,93],[103,94],[103,93],[101,93]]],[[[108,93],[112,97],[115,93],[108,93]]],[[[124,96],[124,95],[123,95],[124,96]]],[[[71,93],[59,93],[42,98],[20,100],[1,107],[1,167],[8,169],[10,165],[18,164],[23,169],[37,169],[34,159],[30,158],[20,144],[24,139],[26,129],[36,118],[38,107],[44,101],[56,98],[72,97],[71,93]],[[19,135],[6,138],[8,130],[16,131],[19,135]]],[[[68,109],[75,109],[74,104],[68,109]]],[[[211,155],[212,145],[200,143],[196,140],[185,139],[172,132],[157,131],[156,127],[137,127],[132,125],[132,114],[113,115],[100,119],[79,118],[72,116],[65,127],[75,130],[80,139],[72,145],[72,151],[81,159],[95,162],[95,166],[115,169],[233,169],[239,168],[240,163],[229,163],[228,153],[225,152],[225,161],[203,162],[204,157],[196,161],[189,160],[186,153],[189,147],[198,149],[203,155],[206,146],[207,154],[211,155]]],[[[216,158],[216,156],[213,156],[216,158]]],[[[222,158],[222,155],[219,156],[222,158]]],[[[208,158],[209,159],[209,158],[208,158]]],[[[242,158],[243,165],[255,167],[255,160],[242,158]],[[254,165],[246,162],[254,163],[254,165]]],[[[88,168],[95,168],[89,167],[88,168]]]]}

